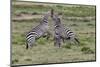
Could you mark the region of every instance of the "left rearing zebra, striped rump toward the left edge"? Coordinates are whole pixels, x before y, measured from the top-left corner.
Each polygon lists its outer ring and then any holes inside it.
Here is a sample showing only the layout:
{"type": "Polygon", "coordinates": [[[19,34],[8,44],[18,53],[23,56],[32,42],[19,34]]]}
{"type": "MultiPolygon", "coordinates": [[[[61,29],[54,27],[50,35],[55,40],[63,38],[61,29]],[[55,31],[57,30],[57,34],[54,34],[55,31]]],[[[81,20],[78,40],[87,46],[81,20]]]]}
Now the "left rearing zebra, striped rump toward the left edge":
{"type": "Polygon", "coordinates": [[[35,44],[35,40],[47,35],[47,39],[49,38],[49,26],[48,26],[48,17],[50,16],[50,13],[47,13],[44,15],[43,19],[41,20],[40,24],[30,30],[26,34],[26,49],[29,47],[32,47],[33,44],[35,44]]]}

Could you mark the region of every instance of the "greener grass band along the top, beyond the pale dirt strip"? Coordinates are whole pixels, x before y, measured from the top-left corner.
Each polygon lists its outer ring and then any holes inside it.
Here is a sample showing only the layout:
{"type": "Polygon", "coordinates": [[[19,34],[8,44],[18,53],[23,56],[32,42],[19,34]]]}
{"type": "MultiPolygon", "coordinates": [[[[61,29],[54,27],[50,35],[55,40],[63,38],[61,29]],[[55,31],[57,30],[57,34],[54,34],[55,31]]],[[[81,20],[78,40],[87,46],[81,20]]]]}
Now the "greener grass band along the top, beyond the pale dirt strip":
{"type": "MultiPolygon", "coordinates": [[[[14,3],[14,2],[13,2],[14,3]]],[[[28,12],[28,13],[34,13],[37,14],[43,14],[47,10],[53,7],[53,9],[56,9],[57,12],[63,13],[65,16],[78,16],[78,17],[85,17],[85,16],[95,16],[95,6],[85,6],[85,5],[70,5],[72,8],[68,5],[58,5],[58,4],[52,4],[51,5],[38,5],[34,4],[33,2],[30,3],[32,5],[26,5],[26,4],[13,4],[13,14],[18,14],[20,12],[28,12]]]]}

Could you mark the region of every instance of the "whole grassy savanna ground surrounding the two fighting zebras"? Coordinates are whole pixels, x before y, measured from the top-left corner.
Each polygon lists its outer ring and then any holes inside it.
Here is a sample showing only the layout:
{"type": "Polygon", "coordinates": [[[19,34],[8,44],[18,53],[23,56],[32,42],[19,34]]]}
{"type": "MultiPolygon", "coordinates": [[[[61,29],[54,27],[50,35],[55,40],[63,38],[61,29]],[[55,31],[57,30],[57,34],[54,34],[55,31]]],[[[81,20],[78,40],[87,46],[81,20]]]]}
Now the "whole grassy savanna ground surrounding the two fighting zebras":
{"type": "MultiPolygon", "coordinates": [[[[52,20],[49,18],[52,26],[52,20]]],[[[95,61],[95,6],[12,2],[12,65],[95,61]],[[54,46],[53,37],[40,38],[37,46],[25,49],[25,34],[51,8],[61,15],[62,23],[74,31],[80,45],[54,46]]],[[[50,26],[50,27],[51,27],[50,26]]],[[[51,27],[52,28],[52,27],[51,27]]],[[[51,30],[52,31],[52,30],[51,30]]]]}

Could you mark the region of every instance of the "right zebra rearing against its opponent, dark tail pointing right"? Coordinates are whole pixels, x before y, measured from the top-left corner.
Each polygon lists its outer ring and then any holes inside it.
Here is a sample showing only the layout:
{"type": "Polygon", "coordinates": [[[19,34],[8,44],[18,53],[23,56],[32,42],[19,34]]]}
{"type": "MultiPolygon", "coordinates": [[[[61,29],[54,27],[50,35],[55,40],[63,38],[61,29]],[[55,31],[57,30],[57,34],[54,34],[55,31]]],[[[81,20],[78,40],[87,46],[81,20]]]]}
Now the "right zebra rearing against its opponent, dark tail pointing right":
{"type": "Polygon", "coordinates": [[[76,38],[76,35],[73,31],[70,30],[70,28],[64,27],[64,25],[61,24],[61,19],[57,14],[54,14],[54,11],[51,10],[51,18],[54,21],[54,45],[58,45],[60,47],[61,45],[61,40],[63,42],[70,41],[70,42],[77,42],[78,44],[80,43],[78,39],[76,38]]]}

